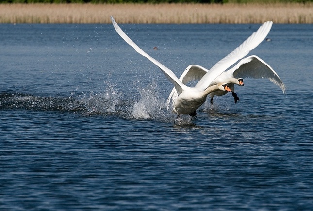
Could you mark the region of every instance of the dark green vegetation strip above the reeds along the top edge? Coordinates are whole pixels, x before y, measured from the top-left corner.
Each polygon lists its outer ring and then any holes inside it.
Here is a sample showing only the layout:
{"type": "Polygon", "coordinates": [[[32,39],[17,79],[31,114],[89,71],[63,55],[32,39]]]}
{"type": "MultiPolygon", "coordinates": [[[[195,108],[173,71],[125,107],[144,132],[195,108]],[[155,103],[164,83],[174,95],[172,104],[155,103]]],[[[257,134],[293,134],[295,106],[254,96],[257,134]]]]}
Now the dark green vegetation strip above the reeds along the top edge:
{"type": "Polygon", "coordinates": [[[0,0],[1,3],[307,3],[313,0],[0,0]]]}

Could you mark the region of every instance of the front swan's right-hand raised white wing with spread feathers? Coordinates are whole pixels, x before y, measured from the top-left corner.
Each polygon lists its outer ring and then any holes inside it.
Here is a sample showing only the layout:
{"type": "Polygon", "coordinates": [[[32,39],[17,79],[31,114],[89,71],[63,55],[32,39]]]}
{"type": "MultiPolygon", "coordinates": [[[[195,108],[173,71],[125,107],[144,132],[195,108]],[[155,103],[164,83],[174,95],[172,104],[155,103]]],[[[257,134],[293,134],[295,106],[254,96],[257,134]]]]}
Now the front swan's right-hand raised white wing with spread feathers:
{"type": "Polygon", "coordinates": [[[197,83],[196,87],[205,90],[210,84],[231,65],[245,57],[251,50],[255,49],[267,36],[273,25],[272,21],[267,21],[251,36],[247,38],[239,47],[217,62],[208,73],[197,83]]]}

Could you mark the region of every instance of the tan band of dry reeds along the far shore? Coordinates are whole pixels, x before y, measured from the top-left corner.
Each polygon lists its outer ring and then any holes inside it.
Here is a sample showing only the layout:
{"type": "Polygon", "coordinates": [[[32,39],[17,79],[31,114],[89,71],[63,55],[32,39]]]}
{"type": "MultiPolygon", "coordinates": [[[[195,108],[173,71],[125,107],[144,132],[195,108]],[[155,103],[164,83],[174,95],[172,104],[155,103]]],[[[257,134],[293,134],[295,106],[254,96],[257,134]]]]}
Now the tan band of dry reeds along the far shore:
{"type": "Polygon", "coordinates": [[[0,4],[0,23],[313,23],[313,3],[0,4]]]}

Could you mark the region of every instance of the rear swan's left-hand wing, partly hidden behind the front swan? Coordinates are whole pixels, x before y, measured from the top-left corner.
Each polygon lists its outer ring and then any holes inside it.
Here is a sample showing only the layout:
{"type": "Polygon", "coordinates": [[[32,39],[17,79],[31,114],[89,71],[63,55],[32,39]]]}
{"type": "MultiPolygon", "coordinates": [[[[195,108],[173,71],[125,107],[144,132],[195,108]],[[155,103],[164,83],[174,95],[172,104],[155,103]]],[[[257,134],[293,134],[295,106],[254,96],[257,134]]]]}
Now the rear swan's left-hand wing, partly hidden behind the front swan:
{"type": "MultiPolygon", "coordinates": [[[[199,81],[208,71],[208,69],[200,65],[189,65],[181,74],[180,81],[182,81],[183,84],[187,84],[190,81],[199,81]]],[[[169,110],[171,101],[174,103],[177,97],[178,93],[174,87],[166,101],[167,110],[169,110]]]]}

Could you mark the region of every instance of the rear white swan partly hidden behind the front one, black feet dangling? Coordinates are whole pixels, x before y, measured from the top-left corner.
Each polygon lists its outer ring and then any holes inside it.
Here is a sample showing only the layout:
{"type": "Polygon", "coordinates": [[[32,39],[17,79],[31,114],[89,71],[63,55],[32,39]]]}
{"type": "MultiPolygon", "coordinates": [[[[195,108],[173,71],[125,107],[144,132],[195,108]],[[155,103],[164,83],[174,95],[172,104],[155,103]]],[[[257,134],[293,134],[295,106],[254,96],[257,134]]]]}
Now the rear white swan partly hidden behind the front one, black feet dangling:
{"type": "MultiPolygon", "coordinates": [[[[181,74],[180,81],[182,83],[187,84],[190,81],[200,80],[208,70],[199,65],[189,65],[185,71],[181,74]]],[[[239,97],[235,93],[234,84],[239,86],[244,86],[244,78],[267,78],[269,81],[278,85],[282,90],[283,94],[286,94],[286,86],[284,82],[280,79],[279,75],[275,72],[275,70],[264,62],[260,57],[256,55],[248,56],[238,62],[233,68],[223,72],[220,74],[211,85],[215,85],[218,83],[227,83],[229,88],[231,89],[232,96],[234,97],[235,103],[239,100],[239,97]]],[[[217,90],[210,93],[210,102],[213,104],[213,97],[225,95],[227,92],[223,90],[217,90]]],[[[174,102],[177,98],[178,94],[176,89],[173,88],[167,99],[167,109],[170,107],[170,102],[174,102]]]]}

